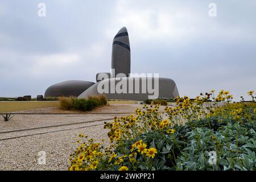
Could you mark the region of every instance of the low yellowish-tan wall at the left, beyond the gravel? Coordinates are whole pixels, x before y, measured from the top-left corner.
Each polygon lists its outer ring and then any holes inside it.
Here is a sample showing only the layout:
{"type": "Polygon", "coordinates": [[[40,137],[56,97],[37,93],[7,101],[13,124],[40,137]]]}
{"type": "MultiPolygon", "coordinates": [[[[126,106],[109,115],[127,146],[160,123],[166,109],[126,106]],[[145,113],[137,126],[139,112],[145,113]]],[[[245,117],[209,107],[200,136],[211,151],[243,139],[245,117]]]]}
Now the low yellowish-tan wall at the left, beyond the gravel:
{"type": "Polygon", "coordinates": [[[56,107],[59,101],[1,101],[0,113],[56,107]]]}

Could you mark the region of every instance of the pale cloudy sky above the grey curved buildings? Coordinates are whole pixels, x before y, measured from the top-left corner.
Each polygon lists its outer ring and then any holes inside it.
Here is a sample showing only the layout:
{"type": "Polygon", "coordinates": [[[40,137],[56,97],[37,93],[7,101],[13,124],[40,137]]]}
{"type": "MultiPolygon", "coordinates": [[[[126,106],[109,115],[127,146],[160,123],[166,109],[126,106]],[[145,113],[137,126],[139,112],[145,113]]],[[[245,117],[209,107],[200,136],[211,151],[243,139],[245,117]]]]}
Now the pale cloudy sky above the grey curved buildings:
{"type": "Polygon", "coordinates": [[[0,97],[44,94],[110,72],[112,40],[127,27],[132,73],[172,78],[181,96],[256,90],[256,1],[1,0],[0,97]],[[46,17],[38,4],[46,4],[46,17]],[[217,16],[210,17],[209,3],[217,16]]]}

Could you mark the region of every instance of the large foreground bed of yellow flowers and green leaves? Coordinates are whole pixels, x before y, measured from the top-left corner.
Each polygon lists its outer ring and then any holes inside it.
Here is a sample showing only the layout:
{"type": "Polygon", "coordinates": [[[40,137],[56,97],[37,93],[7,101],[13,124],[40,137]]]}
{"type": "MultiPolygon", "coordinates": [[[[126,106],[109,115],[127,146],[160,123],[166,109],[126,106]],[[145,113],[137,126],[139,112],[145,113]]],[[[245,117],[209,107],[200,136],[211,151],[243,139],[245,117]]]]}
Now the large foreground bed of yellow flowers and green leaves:
{"type": "Polygon", "coordinates": [[[175,100],[105,123],[109,147],[80,134],[69,170],[256,170],[254,107],[232,109],[224,90],[175,100]]]}

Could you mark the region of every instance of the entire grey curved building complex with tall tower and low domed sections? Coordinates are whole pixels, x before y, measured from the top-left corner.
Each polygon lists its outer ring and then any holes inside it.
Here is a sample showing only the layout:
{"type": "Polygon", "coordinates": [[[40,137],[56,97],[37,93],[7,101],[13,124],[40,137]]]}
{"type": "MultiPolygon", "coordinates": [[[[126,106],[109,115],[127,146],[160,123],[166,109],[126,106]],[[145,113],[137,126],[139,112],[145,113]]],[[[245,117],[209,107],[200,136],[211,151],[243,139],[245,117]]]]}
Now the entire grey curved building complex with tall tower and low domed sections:
{"type": "Polygon", "coordinates": [[[97,73],[97,83],[70,80],[49,86],[44,97],[87,98],[104,94],[108,99],[143,101],[179,96],[174,80],[161,77],[130,77],[131,53],[126,27],[115,35],[112,44],[112,73],[97,73]]]}

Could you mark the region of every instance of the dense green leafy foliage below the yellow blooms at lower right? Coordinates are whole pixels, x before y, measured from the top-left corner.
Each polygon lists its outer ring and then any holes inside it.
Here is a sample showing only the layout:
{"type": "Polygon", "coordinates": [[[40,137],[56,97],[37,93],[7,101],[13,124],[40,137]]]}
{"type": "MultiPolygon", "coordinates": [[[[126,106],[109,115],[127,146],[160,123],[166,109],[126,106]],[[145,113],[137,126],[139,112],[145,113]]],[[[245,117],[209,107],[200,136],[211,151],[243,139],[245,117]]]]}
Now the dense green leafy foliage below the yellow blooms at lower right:
{"type": "MultiPolygon", "coordinates": [[[[154,147],[158,153],[151,162],[150,158],[137,151],[137,163],[129,163],[125,158],[123,164],[130,170],[251,170],[256,167],[256,123],[241,125],[232,119],[201,119],[187,123],[185,126],[174,126],[174,134],[152,130],[143,133],[133,140],[119,144],[115,153],[119,156],[129,155],[131,146],[142,139],[147,148],[154,147]],[[222,122],[220,122],[220,119],[222,122]],[[126,149],[127,148],[127,149],[126,149]],[[211,151],[216,152],[217,161],[209,163],[211,151]]],[[[113,161],[112,164],[115,163],[113,161]]],[[[105,168],[113,170],[113,166],[105,168]]],[[[105,170],[104,169],[104,170],[105,170]]]]}

